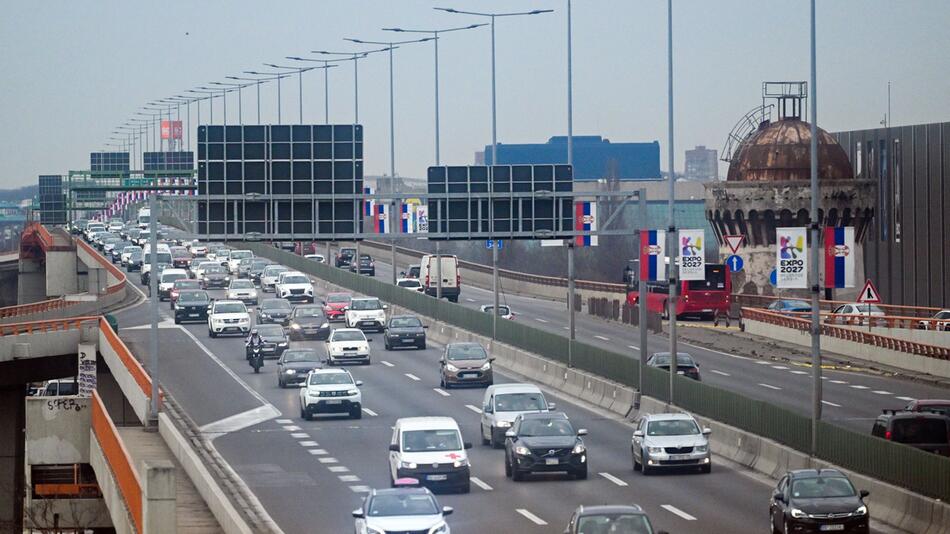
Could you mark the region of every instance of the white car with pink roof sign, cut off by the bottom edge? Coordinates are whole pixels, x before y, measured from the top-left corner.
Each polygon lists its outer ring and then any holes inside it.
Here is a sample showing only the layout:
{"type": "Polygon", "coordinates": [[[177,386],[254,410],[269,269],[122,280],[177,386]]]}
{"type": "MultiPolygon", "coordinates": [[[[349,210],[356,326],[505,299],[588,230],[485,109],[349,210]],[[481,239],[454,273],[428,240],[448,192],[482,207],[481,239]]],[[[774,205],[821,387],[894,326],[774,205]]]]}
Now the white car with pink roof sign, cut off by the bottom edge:
{"type": "Polygon", "coordinates": [[[439,506],[428,488],[412,487],[418,484],[417,479],[401,478],[395,481],[394,488],[370,490],[363,504],[353,510],[357,534],[450,534],[445,517],[452,514],[452,507],[439,506]]]}

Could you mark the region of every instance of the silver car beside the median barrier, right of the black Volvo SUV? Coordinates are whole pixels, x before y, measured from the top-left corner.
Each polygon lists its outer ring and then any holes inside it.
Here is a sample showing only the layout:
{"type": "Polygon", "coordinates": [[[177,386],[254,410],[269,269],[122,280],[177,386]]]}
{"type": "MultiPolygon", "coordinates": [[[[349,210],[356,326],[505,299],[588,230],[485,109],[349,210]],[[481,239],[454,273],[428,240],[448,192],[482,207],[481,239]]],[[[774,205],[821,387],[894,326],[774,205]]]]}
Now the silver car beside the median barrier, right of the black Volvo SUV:
{"type": "Polygon", "coordinates": [[[649,475],[665,467],[698,467],[709,473],[711,433],[688,413],[645,414],[630,439],[633,470],[649,475]]]}

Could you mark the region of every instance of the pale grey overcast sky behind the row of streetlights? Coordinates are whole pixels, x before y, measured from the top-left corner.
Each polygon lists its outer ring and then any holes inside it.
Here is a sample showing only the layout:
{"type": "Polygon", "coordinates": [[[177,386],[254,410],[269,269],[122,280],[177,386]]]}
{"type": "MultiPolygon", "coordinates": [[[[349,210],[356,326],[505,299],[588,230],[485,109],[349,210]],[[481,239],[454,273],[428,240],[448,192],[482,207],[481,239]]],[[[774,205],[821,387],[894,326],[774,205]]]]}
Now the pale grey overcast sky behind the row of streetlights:
{"type": "MultiPolygon", "coordinates": [[[[433,10],[554,9],[496,22],[500,143],[567,132],[567,0],[4,0],[0,18],[0,188],[40,174],[87,169],[113,130],[149,101],[226,81],[264,63],[300,64],[312,50],[353,51],[344,38],[399,40],[384,27],[441,29],[485,22],[433,10]]],[[[806,0],[674,0],[674,155],[721,150],[732,126],[761,103],[761,83],[809,77],[806,0]]],[[[663,0],[574,0],[574,134],[661,147],[668,169],[667,25],[663,0]]],[[[819,0],[818,124],[877,127],[891,82],[894,125],[950,120],[950,2],[819,0]]],[[[488,27],[439,41],[442,163],[472,164],[491,143],[488,27]]],[[[389,172],[387,54],[359,64],[366,173],[389,172]]],[[[435,159],[431,42],[394,53],[395,168],[422,177],[435,159]]],[[[353,121],[351,63],[330,74],[330,122],[353,121]]],[[[277,90],[261,91],[262,122],[276,124],[277,90]]],[[[245,123],[256,120],[253,89],[245,123]]],[[[298,80],[281,87],[282,122],[297,123],[298,80]]],[[[303,120],[324,121],[319,71],[303,75],[303,120]]],[[[236,123],[229,96],[228,122],[236,123]]],[[[185,110],[182,108],[182,119],[185,110]]],[[[215,101],[215,122],[222,118],[215,101]]],[[[202,123],[209,120],[202,103],[202,123]]],[[[197,126],[192,106],[192,136],[197,126]]],[[[721,168],[725,174],[725,167],[721,168]]]]}

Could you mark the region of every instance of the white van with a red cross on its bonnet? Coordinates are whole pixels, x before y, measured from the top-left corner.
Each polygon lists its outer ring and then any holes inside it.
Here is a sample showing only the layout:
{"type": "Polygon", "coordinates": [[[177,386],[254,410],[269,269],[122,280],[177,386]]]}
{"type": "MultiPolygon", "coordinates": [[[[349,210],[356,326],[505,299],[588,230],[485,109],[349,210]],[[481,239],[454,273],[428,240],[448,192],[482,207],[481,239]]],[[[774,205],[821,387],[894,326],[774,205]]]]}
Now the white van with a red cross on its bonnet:
{"type": "Polygon", "coordinates": [[[451,417],[403,417],[389,442],[389,481],[414,478],[430,489],[471,490],[468,449],[451,417]]]}

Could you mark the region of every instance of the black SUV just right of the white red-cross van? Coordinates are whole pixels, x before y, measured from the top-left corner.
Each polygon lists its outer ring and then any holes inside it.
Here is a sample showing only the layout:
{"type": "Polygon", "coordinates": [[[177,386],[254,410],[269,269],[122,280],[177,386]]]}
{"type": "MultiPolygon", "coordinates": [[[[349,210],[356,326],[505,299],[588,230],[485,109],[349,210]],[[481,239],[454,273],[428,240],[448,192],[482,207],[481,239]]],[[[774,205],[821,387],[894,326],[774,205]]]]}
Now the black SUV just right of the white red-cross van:
{"type": "Polygon", "coordinates": [[[505,476],[519,481],[526,474],[566,472],[587,478],[585,435],[562,412],[518,415],[505,433],[505,476]]]}

